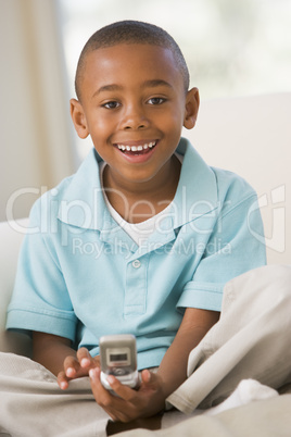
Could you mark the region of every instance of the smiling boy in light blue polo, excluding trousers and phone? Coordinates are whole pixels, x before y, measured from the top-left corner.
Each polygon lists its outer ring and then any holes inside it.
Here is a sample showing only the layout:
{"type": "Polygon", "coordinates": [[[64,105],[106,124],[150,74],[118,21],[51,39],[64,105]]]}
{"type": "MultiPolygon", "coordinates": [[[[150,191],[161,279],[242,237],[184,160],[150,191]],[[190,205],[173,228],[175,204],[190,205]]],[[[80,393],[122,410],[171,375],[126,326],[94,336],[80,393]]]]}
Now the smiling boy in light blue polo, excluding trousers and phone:
{"type": "Polygon", "coordinates": [[[195,125],[199,92],[164,30],[98,30],[76,93],[72,118],[94,150],[33,208],[8,328],[33,333],[34,360],[62,389],[89,375],[97,402],[128,422],[163,410],[219,319],[224,284],[265,264],[251,233],[263,234],[262,221],[257,209],[249,214],[252,188],[180,139],[195,125]],[[132,390],[112,377],[115,397],[100,384],[98,345],[118,333],[137,337],[142,382],[132,390]]]}

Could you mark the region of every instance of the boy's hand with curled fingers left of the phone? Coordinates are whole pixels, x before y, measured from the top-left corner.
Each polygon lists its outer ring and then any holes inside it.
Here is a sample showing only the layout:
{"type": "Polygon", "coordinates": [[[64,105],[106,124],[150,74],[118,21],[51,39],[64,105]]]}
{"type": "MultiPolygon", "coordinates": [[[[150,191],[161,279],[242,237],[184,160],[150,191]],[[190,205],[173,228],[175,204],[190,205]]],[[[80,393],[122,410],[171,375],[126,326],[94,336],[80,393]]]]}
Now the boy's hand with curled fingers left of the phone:
{"type": "Polygon", "coordinates": [[[86,348],[80,348],[76,357],[66,357],[64,360],[64,370],[58,374],[58,384],[65,390],[71,379],[89,376],[90,369],[100,366],[100,358],[92,358],[86,348]]]}

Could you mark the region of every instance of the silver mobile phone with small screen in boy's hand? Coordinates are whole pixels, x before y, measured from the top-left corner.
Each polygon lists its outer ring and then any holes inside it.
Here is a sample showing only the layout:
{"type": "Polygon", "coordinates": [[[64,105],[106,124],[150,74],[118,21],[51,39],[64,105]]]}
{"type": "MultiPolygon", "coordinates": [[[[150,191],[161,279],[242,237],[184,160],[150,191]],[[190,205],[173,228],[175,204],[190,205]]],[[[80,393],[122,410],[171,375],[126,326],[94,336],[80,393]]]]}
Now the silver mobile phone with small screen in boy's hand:
{"type": "Polygon", "coordinates": [[[138,388],[136,337],[131,334],[106,335],[100,338],[101,383],[112,391],[107,376],[115,376],[122,384],[138,388]]]}

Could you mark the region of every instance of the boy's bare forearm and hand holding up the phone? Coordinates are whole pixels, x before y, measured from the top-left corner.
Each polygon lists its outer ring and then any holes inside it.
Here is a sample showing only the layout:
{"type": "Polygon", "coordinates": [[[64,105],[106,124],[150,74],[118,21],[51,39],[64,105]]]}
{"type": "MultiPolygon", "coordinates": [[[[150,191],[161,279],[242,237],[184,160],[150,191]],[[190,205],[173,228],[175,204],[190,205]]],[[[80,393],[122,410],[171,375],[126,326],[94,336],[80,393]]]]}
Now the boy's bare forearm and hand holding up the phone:
{"type": "Polygon", "coordinates": [[[142,371],[142,383],[137,391],[111,377],[110,385],[118,397],[112,396],[100,383],[100,370],[90,371],[97,402],[114,421],[129,422],[159,413],[164,408],[165,399],[187,378],[190,351],[218,319],[219,312],[188,308],[157,374],[142,371]]]}

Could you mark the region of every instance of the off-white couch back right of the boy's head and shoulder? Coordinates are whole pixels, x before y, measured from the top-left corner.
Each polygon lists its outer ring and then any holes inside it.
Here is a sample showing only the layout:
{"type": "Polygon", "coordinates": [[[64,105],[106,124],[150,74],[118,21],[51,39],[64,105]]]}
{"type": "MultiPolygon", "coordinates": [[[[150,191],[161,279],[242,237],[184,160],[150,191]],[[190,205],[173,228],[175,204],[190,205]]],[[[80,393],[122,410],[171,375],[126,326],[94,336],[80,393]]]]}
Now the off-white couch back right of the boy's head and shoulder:
{"type": "Polygon", "coordinates": [[[185,130],[205,161],[257,191],[269,264],[291,264],[291,92],[202,101],[185,130]]]}

